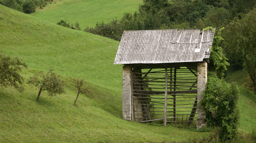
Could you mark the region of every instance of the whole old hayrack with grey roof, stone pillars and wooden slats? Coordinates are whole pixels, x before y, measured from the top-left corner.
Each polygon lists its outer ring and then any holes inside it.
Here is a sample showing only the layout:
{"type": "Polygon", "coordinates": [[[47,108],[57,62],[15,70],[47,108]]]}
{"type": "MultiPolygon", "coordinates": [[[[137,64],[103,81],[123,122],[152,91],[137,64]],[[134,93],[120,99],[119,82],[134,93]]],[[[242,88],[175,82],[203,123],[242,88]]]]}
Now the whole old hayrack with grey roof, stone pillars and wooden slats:
{"type": "Polygon", "coordinates": [[[123,119],[149,122],[197,121],[206,125],[199,103],[206,87],[214,32],[144,30],[123,33],[114,64],[123,64],[123,119]]]}

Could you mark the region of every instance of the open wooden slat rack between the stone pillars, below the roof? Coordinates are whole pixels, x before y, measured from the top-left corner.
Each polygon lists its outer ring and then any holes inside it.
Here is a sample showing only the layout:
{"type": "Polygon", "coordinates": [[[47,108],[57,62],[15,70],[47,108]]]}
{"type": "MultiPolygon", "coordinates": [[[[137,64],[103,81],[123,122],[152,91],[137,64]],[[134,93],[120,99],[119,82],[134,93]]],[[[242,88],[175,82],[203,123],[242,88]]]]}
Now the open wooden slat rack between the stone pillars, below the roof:
{"type": "Polygon", "coordinates": [[[166,67],[132,72],[132,105],[143,112],[140,122],[164,120],[167,122],[196,121],[197,69],[188,67],[166,67]],[[138,102],[139,101],[139,102],[138,102]],[[139,104],[140,103],[140,104],[139,104]],[[138,107],[139,106],[139,107],[138,107]],[[143,120],[143,121],[141,121],[143,120]]]}

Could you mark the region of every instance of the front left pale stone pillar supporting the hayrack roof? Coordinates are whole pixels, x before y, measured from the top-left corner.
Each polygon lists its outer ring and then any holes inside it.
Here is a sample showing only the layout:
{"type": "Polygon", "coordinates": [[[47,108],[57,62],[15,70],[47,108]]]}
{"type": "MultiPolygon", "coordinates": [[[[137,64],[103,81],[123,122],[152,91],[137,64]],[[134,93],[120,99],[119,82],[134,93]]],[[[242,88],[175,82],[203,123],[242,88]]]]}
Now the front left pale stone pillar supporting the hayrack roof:
{"type": "Polygon", "coordinates": [[[123,66],[123,119],[131,121],[131,66],[123,66]]]}

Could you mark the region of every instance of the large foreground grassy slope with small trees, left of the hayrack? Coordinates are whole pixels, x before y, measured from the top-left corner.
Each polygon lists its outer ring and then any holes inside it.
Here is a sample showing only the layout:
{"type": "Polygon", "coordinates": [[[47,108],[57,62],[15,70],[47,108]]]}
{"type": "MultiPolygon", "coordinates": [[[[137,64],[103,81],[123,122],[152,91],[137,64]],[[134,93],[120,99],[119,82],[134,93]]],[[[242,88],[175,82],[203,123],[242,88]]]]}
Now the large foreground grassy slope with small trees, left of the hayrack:
{"type": "Polygon", "coordinates": [[[21,94],[0,88],[0,142],[162,142],[201,140],[199,133],[121,119],[122,65],[113,65],[119,42],[76,31],[0,5],[0,53],[28,64],[25,79],[53,68],[61,78],[85,78],[92,92],[67,83],[66,94],[36,102],[38,89],[21,94]]]}

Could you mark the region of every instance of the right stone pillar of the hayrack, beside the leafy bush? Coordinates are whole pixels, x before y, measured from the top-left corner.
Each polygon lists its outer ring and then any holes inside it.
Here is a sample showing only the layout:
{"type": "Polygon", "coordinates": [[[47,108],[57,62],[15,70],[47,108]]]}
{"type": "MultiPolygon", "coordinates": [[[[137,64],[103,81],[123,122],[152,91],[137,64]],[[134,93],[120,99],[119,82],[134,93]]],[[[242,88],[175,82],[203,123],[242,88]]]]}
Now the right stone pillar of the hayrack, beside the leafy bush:
{"type": "Polygon", "coordinates": [[[206,88],[207,83],[207,63],[197,64],[197,122],[196,128],[201,129],[207,125],[206,114],[201,103],[203,96],[201,95],[206,88]]]}

